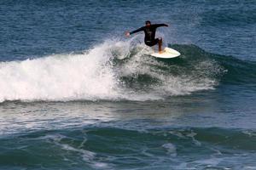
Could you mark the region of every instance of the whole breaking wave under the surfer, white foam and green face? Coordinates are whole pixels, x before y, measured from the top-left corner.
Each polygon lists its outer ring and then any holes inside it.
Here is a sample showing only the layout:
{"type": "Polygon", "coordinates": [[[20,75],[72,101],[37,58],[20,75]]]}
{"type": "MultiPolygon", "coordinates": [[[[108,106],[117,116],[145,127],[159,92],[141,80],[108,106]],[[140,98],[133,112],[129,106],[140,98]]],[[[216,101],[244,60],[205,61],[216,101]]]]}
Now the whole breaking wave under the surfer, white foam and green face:
{"type": "Polygon", "coordinates": [[[195,45],[173,45],[182,53],[177,59],[154,59],[151,48],[133,40],[108,40],[81,54],[2,62],[0,101],[165,99],[213,89],[246,76],[239,75],[242,67],[255,68],[195,45]]]}

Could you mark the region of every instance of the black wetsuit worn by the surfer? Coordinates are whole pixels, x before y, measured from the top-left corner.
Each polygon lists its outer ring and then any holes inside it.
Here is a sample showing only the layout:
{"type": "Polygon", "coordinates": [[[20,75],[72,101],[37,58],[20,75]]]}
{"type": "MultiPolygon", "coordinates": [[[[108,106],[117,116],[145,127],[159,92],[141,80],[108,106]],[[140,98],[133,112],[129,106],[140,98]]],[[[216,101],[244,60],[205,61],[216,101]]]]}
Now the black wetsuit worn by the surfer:
{"type": "Polygon", "coordinates": [[[154,46],[155,44],[157,44],[160,39],[159,38],[154,38],[155,37],[155,31],[156,28],[160,27],[160,26],[167,26],[166,24],[154,24],[154,25],[150,25],[148,26],[143,26],[135,31],[131,31],[130,34],[134,34],[138,31],[144,31],[145,33],[145,38],[144,38],[144,42],[146,45],[148,45],[149,47],[154,46]]]}

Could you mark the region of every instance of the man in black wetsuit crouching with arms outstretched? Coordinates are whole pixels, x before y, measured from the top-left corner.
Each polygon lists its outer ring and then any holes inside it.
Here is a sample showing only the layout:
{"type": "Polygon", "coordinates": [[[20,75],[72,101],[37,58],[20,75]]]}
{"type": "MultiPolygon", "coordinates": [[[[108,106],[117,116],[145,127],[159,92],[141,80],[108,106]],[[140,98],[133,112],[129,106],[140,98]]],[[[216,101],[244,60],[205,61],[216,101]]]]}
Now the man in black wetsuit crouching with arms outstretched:
{"type": "Polygon", "coordinates": [[[149,20],[147,20],[145,22],[146,26],[143,26],[135,31],[126,31],[125,32],[125,36],[126,37],[129,37],[131,34],[134,34],[138,31],[144,31],[145,33],[145,37],[144,37],[144,42],[146,45],[148,45],[149,47],[152,47],[154,46],[155,44],[158,43],[158,51],[159,53],[162,53],[162,38],[161,37],[158,37],[158,38],[155,38],[155,31],[156,31],[156,28],[160,27],[160,26],[168,26],[166,24],[152,24],[151,25],[151,22],[149,20]]]}

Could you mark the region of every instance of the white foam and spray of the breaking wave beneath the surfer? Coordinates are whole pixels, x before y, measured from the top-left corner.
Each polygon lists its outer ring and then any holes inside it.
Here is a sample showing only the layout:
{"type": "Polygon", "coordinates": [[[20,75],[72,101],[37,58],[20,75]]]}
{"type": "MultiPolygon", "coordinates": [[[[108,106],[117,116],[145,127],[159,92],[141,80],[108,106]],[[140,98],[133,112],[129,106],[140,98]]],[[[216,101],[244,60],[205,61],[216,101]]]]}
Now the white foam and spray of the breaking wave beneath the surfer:
{"type": "MultiPolygon", "coordinates": [[[[132,39],[131,39],[132,41],[132,39]]],[[[162,66],[148,55],[152,52],[143,44],[137,54],[118,68],[113,58],[130,56],[131,41],[108,40],[84,54],[56,54],[40,59],[0,63],[0,102],[4,100],[96,100],[96,99],[163,99],[167,95],[182,95],[212,88],[214,81],[189,82],[190,77],[163,74],[162,66]],[[113,54],[114,53],[114,54],[113,54]],[[161,85],[146,90],[124,88],[119,77],[148,74],[161,85]],[[152,90],[153,89],[153,90],[152,90]]]]}

